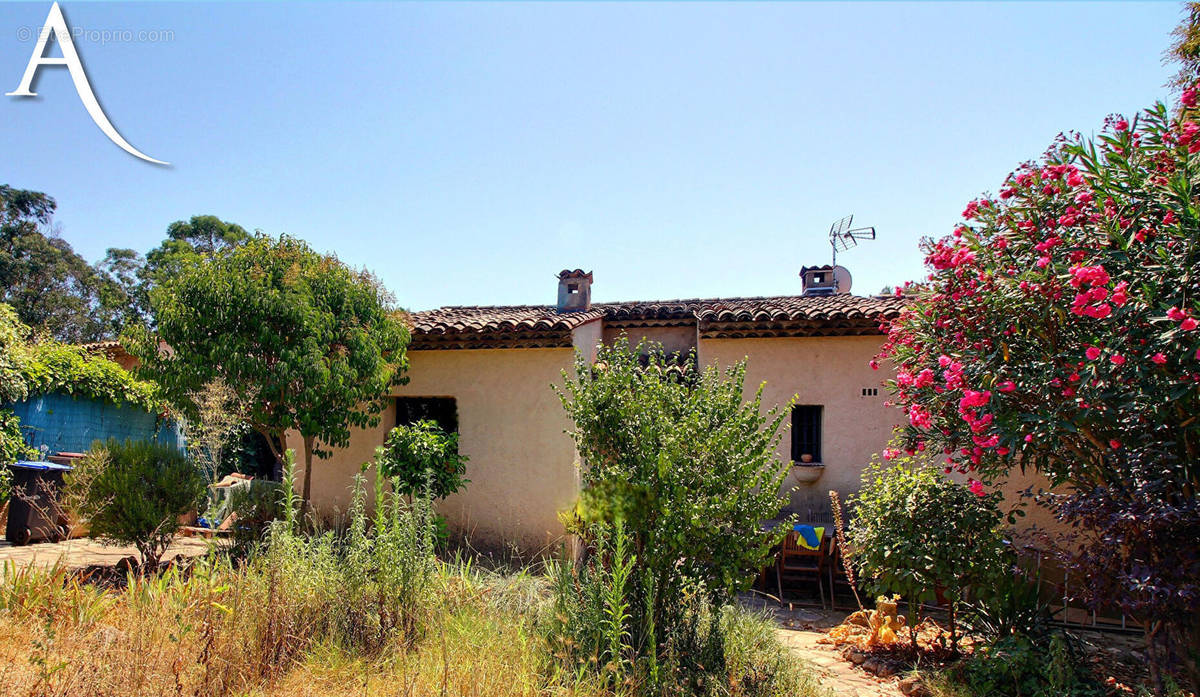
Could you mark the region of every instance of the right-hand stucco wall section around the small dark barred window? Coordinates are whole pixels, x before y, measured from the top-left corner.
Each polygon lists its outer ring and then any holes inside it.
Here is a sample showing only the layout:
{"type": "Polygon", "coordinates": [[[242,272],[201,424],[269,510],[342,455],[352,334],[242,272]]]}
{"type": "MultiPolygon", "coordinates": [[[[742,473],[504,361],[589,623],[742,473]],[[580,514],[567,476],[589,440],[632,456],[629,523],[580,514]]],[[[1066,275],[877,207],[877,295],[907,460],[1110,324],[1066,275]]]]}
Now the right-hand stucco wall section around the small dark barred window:
{"type": "MultiPolygon", "coordinates": [[[[821,404],[822,464],[824,471],[812,483],[800,483],[792,494],[792,507],[802,513],[811,509],[823,519],[829,506],[829,489],[844,497],[858,491],[859,476],[871,456],[881,452],[892,429],[904,416],[884,407],[887,392],[880,386],[886,377],[868,365],[880,350],[883,337],[797,337],[701,340],[701,365],[714,361],[730,366],[749,357],[746,397],[761,383],[764,408],[784,404],[798,395],[798,404],[821,404]],[[863,387],[877,387],[877,396],[863,396],[863,387]]],[[[779,457],[791,461],[791,416],[784,422],[779,457]]],[[[788,479],[786,486],[796,485],[788,479]]]]}

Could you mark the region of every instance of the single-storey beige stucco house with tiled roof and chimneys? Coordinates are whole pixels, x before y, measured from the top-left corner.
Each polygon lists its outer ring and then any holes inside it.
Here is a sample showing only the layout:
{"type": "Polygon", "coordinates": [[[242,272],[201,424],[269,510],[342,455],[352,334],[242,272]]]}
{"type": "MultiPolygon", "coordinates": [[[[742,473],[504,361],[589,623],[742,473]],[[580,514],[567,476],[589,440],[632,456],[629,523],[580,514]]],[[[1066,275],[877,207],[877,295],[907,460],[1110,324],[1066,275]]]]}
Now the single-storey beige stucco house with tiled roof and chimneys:
{"type": "Polygon", "coordinates": [[[601,342],[628,336],[695,350],[701,365],[748,359],[748,396],[766,383],[764,404],[797,395],[779,450],[797,463],[791,507],[828,519],[829,489],[857,489],[900,421],[869,362],[881,322],[902,301],[841,293],[830,266],[805,268],[802,278],[800,295],[593,304],[593,275],[576,269],[559,274],[554,305],[416,312],[408,384],[395,387],[378,427],[314,464],[312,503],[344,510],[354,473],[388,431],[428,417],[457,429],[469,457],[470,483],[440,504],[450,527],[478,546],[556,545],[578,476],[571,423],[551,384],[562,384],[576,351],[594,357],[601,342]]]}

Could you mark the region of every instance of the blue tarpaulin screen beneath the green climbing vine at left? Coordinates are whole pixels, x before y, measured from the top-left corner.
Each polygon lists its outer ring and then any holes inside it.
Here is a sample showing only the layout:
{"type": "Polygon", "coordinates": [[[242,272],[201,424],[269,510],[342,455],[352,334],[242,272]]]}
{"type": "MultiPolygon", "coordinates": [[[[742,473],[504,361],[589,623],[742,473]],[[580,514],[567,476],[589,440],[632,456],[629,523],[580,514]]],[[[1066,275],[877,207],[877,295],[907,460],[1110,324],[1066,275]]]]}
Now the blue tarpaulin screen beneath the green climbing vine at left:
{"type": "Polygon", "coordinates": [[[20,419],[20,434],[48,452],[86,452],[96,440],[145,440],[184,449],[179,423],[133,404],[110,404],[71,395],[38,395],[7,405],[20,419]]]}

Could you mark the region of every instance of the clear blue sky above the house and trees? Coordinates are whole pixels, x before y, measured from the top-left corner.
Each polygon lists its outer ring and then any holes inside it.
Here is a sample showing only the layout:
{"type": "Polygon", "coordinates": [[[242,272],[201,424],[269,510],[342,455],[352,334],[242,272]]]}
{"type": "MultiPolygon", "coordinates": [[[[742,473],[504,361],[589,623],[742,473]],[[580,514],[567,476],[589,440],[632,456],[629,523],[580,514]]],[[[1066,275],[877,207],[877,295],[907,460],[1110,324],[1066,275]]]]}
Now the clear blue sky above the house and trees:
{"type": "MultiPolygon", "coordinates": [[[[0,92],[50,2],[0,5],[0,92]]],[[[1169,92],[1172,2],[62,4],[140,162],[65,68],[0,97],[0,182],[96,260],[214,214],[376,271],[414,310],[799,292],[830,222],[856,290],[1064,130],[1169,92]]],[[[56,49],[54,50],[58,55],[56,49]]]]}

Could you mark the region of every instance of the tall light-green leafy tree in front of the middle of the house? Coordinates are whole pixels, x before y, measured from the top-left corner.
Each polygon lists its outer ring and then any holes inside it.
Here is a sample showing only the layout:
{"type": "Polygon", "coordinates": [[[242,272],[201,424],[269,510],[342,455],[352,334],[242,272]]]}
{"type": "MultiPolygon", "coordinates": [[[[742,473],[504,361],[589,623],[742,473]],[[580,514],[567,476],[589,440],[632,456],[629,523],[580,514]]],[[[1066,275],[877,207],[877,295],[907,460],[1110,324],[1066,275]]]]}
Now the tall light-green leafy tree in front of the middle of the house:
{"type": "Polygon", "coordinates": [[[781,537],[762,521],[786,503],[787,464],[775,456],[786,409],[764,414],[761,387],[745,399],[744,363],[698,369],[658,344],[601,347],[564,379],[582,461],[576,530],[586,541],[629,535],[625,597],[610,603],[628,615],[626,644],[649,666],[671,651],[701,663],[686,648],[718,627],[698,630],[698,618],[715,623],[708,611],[748,587],[781,537]]]}

